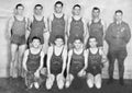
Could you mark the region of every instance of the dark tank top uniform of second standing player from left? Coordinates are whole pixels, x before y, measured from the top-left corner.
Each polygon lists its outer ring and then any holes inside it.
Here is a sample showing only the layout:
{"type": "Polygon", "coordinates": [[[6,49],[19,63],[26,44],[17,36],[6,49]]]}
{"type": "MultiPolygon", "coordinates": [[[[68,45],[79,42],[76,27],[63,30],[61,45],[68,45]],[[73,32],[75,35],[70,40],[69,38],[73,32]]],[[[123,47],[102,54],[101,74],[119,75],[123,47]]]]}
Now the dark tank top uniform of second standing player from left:
{"type": "Polygon", "coordinates": [[[44,28],[45,28],[45,23],[44,23],[44,16],[42,18],[41,21],[37,21],[35,16],[33,16],[33,22],[31,23],[31,33],[29,36],[29,43],[32,42],[32,37],[36,36],[41,38],[41,44],[44,44],[44,28]]]}

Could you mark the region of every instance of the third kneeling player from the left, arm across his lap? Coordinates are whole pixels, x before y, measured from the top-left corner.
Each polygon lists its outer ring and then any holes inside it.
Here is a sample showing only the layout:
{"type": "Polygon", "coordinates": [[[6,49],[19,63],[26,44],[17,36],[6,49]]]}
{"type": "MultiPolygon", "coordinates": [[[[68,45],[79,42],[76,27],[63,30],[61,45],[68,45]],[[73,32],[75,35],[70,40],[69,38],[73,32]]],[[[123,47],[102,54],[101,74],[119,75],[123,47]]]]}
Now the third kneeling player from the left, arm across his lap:
{"type": "Polygon", "coordinates": [[[75,37],[74,48],[68,53],[66,88],[69,88],[74,79],[85,75],[85,70],[87,69],[87,57],[82,39],[75,37]]]}

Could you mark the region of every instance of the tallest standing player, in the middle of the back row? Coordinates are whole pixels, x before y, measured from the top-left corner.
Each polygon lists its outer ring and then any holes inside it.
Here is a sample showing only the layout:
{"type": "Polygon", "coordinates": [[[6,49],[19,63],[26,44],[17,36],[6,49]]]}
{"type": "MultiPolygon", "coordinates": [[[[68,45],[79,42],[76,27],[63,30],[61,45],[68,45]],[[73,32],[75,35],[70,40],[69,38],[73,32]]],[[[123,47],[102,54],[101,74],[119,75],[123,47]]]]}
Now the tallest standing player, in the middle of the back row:
{"type": "Polygon", "coordinates": [[[67,18],[63,13],[64,3],[62,1],[57,1],[54,4],[54,13],[48,19],[50,25],[50,45],[53,45],[55,42],[55,37],[61,35],[65,38],[66,42],[66,21],[67,18]]]}

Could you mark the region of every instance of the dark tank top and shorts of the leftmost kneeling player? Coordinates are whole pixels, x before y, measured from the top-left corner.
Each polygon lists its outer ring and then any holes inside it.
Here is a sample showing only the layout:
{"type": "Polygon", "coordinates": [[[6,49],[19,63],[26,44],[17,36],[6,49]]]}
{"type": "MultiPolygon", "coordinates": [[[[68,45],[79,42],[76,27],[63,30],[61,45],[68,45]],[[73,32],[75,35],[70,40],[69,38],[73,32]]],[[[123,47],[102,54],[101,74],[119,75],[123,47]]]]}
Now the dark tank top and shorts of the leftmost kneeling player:
{"type": "Polygon", "coordinates": [[[41,83],[41,78],[36,78],[34,73],[40,67],[40,61],[41,61],[41,50],[37,54],[32,54],[31,50],[29,49],[29,56],[26,60],[26,77],[25,77],[25,83],[30,88],[30,85],[34,82],[41,83]]]}

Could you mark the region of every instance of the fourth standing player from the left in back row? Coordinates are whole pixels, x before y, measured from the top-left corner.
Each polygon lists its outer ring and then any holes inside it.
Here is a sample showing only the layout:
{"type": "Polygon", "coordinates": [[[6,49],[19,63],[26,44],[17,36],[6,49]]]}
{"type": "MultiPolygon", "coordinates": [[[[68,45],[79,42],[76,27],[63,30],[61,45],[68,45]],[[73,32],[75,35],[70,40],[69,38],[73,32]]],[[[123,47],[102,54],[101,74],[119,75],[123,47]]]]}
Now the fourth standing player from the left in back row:
{"type": "Polygon", "coordinates": [[[80,4],[75,4],[72,10],[72,18],[68,19],[68,47],[73,48],[73,43],[76,37],[80,37],[86,45],[87,30],[86,20],[81,16],[80,4]]]}

